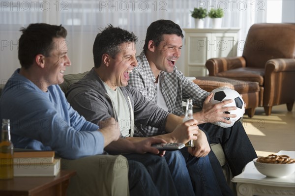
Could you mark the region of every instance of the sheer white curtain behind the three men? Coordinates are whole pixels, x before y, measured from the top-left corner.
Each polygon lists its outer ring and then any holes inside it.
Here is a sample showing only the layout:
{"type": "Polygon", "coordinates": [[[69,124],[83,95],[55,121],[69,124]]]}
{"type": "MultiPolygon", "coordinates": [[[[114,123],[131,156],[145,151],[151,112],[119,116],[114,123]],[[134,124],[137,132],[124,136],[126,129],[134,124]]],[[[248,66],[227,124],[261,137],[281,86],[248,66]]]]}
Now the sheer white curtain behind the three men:
{"type": "MultiPolygon", "coordinates": [[[[62,24],[72,66],[66,73],[80,73],[93,67],[92,45],[96,34],[108,24],[133,31],[140,54],[149,24],[168,19],[181,28],[194,28],[190,11],[194,7],[222,8],[222,28],[240,28],[239,40],[245,40],[254,23],[266,22],[266,0],[1,0],[0,1],[0,80],[5,84],[20,67],[17,58],[19,29],[30,23],[62,24]]],[[[206,18],[205,28],[210,28],[206,18]]],[[[183,42],[184,43],[184,42],[183,42]]],[[[241,55],[238,50],[237,55],[241,55]]],[[[177,68],[184,70],[184,46],[177,68]]]]}

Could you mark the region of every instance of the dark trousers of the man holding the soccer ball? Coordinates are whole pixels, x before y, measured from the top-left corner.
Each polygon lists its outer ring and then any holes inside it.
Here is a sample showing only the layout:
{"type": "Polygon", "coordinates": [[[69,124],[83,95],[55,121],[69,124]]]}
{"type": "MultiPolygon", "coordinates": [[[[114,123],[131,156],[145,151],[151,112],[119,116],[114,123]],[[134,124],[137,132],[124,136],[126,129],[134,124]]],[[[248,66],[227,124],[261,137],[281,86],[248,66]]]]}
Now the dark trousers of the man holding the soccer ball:
{"type": "Polygon", "coordinates": [[[199,127],[206,130],[210,143],[221,144],[234,176],[240,174],[247,163],[257,158],[254,147],[241,122],[237,122],[234,126],[228,128],[211,123],[204,123],[199,127]]]}

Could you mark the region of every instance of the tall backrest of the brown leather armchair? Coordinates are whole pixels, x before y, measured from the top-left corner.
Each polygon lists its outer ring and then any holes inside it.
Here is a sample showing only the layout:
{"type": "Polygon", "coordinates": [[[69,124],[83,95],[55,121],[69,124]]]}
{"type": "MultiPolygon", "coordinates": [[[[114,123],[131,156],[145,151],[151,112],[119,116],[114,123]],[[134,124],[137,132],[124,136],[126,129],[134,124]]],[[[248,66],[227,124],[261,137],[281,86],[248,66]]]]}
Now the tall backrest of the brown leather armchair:
{"type": "Polygon", "coordinates": [[[250,27],[243,57],[247,67],[264,68],[273,58],[295,58],[295,24],[261,23],[250,27]]]}

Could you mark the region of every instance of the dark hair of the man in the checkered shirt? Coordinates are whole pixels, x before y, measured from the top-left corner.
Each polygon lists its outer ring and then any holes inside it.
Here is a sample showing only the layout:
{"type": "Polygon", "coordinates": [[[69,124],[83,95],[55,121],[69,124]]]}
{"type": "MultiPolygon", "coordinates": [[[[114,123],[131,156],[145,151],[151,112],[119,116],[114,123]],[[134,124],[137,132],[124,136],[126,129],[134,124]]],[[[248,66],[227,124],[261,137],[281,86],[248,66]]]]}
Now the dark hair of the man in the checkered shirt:
{"type": "Polygon", "coordinates": [[[183,38],[182,30],[179,25],[170,20],[157,20],[152,22],[147,30],[144,51],[148,49],[148,41],[152,40],[155,46],[158,46],[163,41],[163,34],[176,34],[183,38]]]}

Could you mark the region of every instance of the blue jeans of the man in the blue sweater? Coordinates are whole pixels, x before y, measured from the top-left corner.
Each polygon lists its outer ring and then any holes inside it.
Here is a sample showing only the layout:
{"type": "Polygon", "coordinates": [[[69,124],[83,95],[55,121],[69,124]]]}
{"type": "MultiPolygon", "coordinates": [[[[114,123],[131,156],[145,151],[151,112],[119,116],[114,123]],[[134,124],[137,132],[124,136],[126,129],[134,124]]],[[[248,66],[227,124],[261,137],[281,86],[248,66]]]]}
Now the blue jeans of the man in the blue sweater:
{"type": "Polygon", "coordinates": [[[131,196],[177,196],[177,190],[164,157],[149,153],[124,154],[124,157],[130,164],[131,196]]]}

